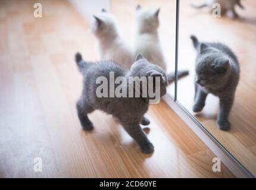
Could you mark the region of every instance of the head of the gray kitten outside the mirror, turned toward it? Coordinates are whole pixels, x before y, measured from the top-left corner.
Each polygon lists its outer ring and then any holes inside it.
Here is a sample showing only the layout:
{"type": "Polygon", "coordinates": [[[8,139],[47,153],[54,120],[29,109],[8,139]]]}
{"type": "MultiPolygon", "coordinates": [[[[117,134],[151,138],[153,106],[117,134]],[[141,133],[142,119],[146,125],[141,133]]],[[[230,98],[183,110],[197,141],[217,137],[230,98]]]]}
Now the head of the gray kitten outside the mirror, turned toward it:
{"type": "MultiPolygon", "coordinates": [[[[136,62],[132,65],[130,73],[133,77],[160,77],[160,97],[166,94],[168,80],[166,72],[160,66],[151,64],[142,55],[138,55],[136,62]]],[[[155,84],[155,80],[153,80],[155,84]]],[[[149,83],[148,83],[149,84],[149,83]]],[[[153,86],[155,90],[155,87],[153,86]]]]}

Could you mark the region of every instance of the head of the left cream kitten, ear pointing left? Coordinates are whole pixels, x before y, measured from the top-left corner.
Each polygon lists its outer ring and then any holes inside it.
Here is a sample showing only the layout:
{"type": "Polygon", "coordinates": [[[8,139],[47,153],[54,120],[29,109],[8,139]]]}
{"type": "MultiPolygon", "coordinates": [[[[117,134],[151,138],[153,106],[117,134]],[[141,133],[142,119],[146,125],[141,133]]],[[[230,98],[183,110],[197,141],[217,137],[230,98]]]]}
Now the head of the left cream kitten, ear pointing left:
{"type": "Polygon", "coordinates": [[[96,37],[108,37],[117,33],[114,16],[105,11],[93,15],[91,31],[96,37]]]}

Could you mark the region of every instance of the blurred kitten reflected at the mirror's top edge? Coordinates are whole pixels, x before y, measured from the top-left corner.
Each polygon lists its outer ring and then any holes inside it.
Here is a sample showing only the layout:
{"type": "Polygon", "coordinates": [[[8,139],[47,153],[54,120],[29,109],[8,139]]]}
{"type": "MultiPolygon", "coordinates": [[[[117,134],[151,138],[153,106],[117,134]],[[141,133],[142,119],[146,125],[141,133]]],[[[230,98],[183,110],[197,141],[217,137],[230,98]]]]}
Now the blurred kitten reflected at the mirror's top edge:
{"type": "Polygon", "coordinates": [[[203,8],[208,7],[211,10],[214,8],[214,4],[220,4],[220,12],[221,15],[226,15],[229,12],[232,14],[232,18],[238,18],[239,15],[236,13],[235,6],[238,5],[240,8],[244,9],[243,5],[241,4],[241,0],[208,0],[199,5],[192,4],[193,8],[203,8]]]}

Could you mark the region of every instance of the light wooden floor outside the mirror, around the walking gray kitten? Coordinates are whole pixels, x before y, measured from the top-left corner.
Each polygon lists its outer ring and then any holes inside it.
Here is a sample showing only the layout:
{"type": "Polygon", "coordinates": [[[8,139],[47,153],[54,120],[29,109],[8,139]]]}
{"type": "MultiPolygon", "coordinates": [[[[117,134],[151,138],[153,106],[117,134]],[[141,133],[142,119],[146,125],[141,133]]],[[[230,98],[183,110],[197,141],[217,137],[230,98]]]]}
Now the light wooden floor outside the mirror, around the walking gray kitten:
{"type": "Polygon", "coordinates": [[[35,2],[0,1],[0,177],[234,177],[223,164],[212,171],[216,156],[163,102],[148,112],[152,155],[102,112],[83,131],[73,56],[96,60],[95,39],[67,1],[43,1],[42,18],[33,17],[35,2]],[[42,172],[33,170],[35,157],[42,172]]]}

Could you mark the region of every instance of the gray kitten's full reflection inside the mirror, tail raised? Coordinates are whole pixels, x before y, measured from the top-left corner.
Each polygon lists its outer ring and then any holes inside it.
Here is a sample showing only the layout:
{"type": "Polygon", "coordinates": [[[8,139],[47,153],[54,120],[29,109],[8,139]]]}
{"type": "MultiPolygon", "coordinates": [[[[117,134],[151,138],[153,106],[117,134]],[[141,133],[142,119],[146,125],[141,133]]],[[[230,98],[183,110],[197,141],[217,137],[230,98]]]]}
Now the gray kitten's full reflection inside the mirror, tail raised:
{"type": "Polygon", "coordinates": [[[195,36],[191,36],[191,39],[198,53],[193,112],[200,112],[204,108],[208,93],[218,96],[220,113],[217,123],[221,130],[228,130],[231,126],[228,117],[239,81],[238,59],[226,45],[200,43],[195,36]]]}

